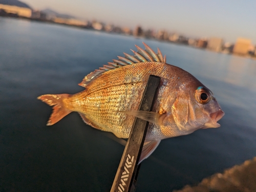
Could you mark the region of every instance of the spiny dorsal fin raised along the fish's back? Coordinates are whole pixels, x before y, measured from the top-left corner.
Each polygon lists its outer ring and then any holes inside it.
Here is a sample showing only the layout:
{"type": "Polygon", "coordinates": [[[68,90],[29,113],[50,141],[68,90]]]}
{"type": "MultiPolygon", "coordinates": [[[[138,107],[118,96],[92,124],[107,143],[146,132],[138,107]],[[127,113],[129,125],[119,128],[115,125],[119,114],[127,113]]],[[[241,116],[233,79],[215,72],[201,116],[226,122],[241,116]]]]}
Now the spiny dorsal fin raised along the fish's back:
{"type": "Polygon", "coordinates": [[[139,46],[135,45],[138,49],[137,52],[133,51],[134,56],[123,53],[124,57],[119,57],[118,60],[113,59],[113,63],[109,62],[109,65],[103,65],[103,67],[99,67],[99,69],[94,70],[92,73],[83,78],[82,82],[78,85],[82,87],[86,87],[92,80],[101,76],[103,73],[109,70],[113,70],[119,67],[123,67],[126,65],[132,65],[135,63],[141,62],[161,62],[166,63],[166,57],[162,55],[159,49],[157,49],[157,54],[148,46],[146,43],[142,42],[145,46],[145,51],[141,49],[139,46]]]}

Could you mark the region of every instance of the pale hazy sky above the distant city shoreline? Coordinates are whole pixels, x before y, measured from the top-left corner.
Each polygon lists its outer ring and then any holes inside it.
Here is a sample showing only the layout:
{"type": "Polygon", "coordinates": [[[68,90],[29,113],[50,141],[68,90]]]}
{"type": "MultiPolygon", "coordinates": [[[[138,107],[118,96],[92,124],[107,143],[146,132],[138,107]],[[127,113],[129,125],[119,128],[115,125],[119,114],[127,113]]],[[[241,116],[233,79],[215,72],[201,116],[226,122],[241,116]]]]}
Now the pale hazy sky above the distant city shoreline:
{"type": "Polygon", "coordinates": [[[20,0],[33,9],[51,8],[120,27],[166,30],[187,37],[238,37],[256,44],[255,0],[20,0]]]}

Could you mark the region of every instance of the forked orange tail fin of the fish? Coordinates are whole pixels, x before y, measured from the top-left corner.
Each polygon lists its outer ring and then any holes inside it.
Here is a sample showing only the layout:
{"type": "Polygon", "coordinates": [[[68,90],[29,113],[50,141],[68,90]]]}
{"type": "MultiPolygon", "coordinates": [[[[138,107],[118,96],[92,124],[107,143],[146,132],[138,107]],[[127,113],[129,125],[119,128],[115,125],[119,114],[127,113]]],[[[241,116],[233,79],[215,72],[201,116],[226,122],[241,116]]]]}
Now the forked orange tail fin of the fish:
{"type": "Polygon", "coordinates": [[[69,94],[43,94],[37,98],[50,106],[54,106],[53,112],[47,122],[48,126],[57,123],[61,118],[72,112],[71,110],[67,109],[62,102],[63,99],[68,97],[69,94]]]}

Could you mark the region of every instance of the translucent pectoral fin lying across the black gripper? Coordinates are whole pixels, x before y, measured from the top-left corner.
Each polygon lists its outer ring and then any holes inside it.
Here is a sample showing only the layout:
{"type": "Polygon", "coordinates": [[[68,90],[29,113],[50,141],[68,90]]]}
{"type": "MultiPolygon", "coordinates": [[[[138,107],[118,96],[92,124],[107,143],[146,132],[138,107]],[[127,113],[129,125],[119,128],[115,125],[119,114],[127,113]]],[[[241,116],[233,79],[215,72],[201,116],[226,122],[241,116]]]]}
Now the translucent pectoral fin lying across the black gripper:
{"type": "Polygon", "coordinates": [[[160,126],[163,125],[162,123],[163,119],[167,115],[166,113],[159,114],[152,111],[132,111],[131,110],[131,111],[118,111],[118,112],[125,113],[128,115],[133,115],[143,119],[144,121],[151,122],[153,124],[160,125],[160,126]]]}

